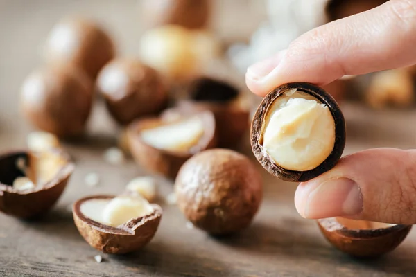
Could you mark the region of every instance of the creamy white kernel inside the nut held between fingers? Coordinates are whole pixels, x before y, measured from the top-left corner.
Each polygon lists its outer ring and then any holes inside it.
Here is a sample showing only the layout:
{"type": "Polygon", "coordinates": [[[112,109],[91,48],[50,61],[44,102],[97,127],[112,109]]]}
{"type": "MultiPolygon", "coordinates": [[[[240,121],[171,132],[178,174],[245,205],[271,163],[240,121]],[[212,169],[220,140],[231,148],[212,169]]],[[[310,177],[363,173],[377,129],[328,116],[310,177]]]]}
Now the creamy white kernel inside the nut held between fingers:
{"type": "Polygon", "coordinates": [[[263,149],[281,168],[311,170],[331,154],[335,122],[329,108],[317,98],[292,89],[279,96],[267,112],[263,149]]]}

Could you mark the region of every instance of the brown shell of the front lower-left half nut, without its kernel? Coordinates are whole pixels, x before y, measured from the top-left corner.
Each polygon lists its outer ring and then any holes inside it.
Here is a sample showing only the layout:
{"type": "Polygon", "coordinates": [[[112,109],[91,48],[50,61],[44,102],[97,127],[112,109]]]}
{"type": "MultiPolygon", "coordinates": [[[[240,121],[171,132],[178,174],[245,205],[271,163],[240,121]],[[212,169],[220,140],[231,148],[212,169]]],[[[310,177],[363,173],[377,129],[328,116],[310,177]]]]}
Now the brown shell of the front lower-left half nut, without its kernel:
{"type": "Polygon", "coordinates": [[[96,195],[79,199],[73,204],[73,220],[86,242],[103,253],[123,254],[144,247],[157,231],[162,218],[162,208],[151,204],[153,213],[137,217],[129,222],[112,227],[85,217],[80,211],[84,202],[92,199],[112,199],[114,196],[96,195]]]}

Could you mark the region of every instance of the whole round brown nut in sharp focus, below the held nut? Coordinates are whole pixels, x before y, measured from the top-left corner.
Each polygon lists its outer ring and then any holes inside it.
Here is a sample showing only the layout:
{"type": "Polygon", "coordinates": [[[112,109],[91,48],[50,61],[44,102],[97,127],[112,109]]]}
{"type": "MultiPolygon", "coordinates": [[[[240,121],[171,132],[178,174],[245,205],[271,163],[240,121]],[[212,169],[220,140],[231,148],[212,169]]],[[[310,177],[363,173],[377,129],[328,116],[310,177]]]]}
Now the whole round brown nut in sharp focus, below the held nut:
{"type": "Polygon", "coordinates": [[[198,228],[214,235],[247,227],[262,199],[261,176],[243,154],[212,149],[189,159],[175,180],[177,205],[198,228]]]}

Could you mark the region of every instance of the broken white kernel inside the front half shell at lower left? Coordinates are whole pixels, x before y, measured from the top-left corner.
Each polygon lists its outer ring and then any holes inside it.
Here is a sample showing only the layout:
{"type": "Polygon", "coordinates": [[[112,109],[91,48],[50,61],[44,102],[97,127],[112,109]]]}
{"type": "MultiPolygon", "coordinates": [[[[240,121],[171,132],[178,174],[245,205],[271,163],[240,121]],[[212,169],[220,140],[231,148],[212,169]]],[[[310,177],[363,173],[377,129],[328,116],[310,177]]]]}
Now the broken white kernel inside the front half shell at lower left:
{"type": "Polygon", "coordinates": [[[91,199],[80,207],[81,213],[91,220],[117,227],[137,217],[153,212],[143,197],[120,196],[113,199],[91,199]]]}

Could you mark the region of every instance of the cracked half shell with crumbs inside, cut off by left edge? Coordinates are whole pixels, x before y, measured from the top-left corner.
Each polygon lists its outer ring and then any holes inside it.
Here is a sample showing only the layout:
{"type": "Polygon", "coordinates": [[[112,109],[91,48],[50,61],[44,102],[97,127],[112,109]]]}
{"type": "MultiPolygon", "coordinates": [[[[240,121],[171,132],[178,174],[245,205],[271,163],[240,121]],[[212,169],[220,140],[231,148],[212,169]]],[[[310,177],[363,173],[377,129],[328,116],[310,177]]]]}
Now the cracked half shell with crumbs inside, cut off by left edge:
{"type": "Polygon", "coordinates": [[[2,154],[0,211],[23,219],[46,213],[58,201],[73,170],[73,163],[60,150],[2,154]]]}

